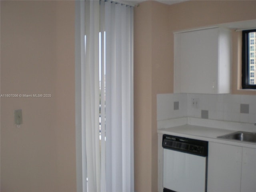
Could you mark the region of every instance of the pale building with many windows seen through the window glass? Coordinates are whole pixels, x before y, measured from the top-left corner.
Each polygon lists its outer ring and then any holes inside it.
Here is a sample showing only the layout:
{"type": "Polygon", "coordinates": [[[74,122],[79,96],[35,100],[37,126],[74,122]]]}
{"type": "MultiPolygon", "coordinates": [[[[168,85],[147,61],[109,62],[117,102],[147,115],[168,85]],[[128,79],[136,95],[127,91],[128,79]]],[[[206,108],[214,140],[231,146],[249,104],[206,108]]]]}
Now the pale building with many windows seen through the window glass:
{"type": "Polygon", "coordinates": [[[256,32],[249,33],[250,42],[250,84],[256,84],[256,32]]]}

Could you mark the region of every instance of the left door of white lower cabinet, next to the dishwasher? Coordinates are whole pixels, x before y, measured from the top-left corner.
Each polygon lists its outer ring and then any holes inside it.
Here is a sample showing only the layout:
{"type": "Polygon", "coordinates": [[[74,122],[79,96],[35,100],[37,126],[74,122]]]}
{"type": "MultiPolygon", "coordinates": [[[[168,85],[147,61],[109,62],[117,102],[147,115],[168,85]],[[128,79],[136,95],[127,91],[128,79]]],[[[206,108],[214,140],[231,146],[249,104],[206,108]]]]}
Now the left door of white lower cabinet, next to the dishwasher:
{"type": "Polygon", "coordinates": [[[207,192],[240,192],[242,147],[209,142],[207,192]]]}

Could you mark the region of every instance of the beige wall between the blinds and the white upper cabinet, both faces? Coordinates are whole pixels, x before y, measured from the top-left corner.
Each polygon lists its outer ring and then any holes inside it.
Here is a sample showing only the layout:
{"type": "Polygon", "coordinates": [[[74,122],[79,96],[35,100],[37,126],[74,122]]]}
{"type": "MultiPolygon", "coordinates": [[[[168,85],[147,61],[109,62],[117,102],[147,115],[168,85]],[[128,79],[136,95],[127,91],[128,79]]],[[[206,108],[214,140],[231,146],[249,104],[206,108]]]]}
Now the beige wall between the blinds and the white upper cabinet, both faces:
{"type": "Polygon", "coordinates": [[[156,93],[172,91],[168,6],[144,2],[134,14],[134,179],[148,192],[157,191],[156,93]]]}

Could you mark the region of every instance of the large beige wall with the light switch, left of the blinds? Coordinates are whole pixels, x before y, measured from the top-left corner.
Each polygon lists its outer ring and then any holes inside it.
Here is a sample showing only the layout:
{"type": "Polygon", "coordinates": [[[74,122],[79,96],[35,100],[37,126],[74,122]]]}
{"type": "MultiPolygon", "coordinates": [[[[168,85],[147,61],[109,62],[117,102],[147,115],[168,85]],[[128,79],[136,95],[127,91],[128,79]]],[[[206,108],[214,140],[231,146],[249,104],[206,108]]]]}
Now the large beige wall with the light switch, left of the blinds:
{"type": "Polygon", "coordinates": [[[52,95],[1,98],[1,192],[76,191],[74,11],[1,0],[1,94],[52,95]]]}

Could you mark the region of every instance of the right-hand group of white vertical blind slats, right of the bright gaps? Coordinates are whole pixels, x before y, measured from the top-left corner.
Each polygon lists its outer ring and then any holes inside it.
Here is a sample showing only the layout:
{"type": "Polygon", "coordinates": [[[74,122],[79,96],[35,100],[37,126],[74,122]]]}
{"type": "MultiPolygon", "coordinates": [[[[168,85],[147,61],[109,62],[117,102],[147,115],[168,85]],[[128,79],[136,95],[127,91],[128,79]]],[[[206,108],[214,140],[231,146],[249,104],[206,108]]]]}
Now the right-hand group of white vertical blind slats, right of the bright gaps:
{"type": "Polygon", "coordinates": [[[105,2],[107,191],[134,191],[133,7],[105,2]]]}

